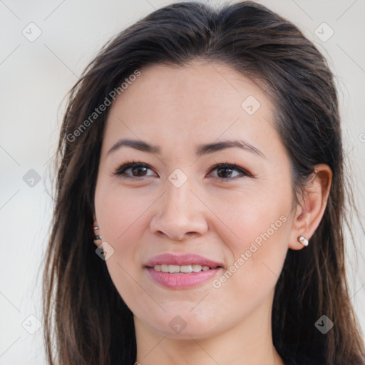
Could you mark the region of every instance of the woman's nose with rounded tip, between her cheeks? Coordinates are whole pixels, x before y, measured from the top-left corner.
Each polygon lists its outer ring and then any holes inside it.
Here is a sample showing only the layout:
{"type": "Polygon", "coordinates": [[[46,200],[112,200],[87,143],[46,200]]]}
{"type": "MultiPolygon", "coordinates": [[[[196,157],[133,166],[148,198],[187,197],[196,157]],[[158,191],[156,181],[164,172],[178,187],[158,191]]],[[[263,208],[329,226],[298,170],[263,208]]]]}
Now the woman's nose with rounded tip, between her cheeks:
{"type": "Polygon", "coordinates": [[[156,212],[150,221],[151,232],[175,241],[199,237],[207,232],[206,207],[190,187],[189,179],[180,187],[167,181],[167,191],[155,205],[156,212]]]}

